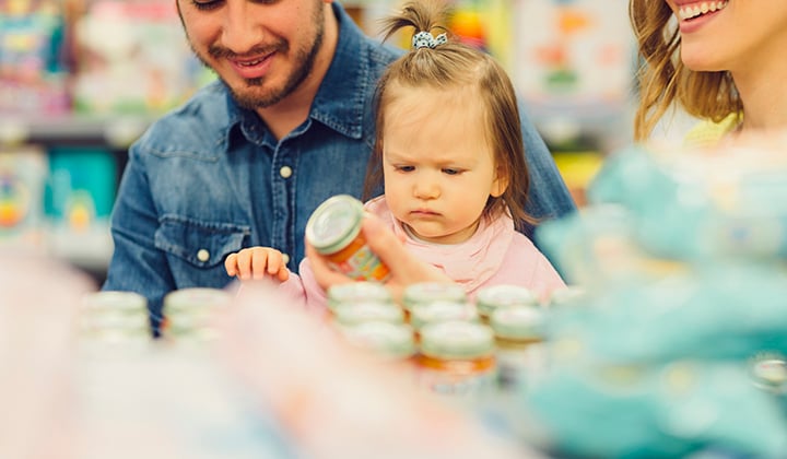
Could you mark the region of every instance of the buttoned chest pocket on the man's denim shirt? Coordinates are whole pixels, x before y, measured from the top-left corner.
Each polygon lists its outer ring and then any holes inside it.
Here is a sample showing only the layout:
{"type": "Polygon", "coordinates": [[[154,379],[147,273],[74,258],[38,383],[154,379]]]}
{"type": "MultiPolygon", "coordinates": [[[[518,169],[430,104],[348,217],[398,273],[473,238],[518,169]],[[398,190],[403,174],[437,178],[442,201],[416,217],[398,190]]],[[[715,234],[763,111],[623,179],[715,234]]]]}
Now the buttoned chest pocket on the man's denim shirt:
{"type": "Polygon", "coordinates": [[[234,223],[200,222],[168,215],[155,233],[155,246],[198,268],[214,268],[243,248],[251,229],[234,223]]]}

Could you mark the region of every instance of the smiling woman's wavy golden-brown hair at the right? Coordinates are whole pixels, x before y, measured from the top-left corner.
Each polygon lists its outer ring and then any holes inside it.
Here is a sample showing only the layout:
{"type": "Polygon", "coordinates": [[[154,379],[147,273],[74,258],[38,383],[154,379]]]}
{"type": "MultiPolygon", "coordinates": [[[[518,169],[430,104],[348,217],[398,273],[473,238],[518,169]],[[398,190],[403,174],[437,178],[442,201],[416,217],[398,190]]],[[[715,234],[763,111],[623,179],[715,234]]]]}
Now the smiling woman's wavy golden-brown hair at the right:
{"type": "Polygon", "coordinates": [[[672,10],[661,0],[631,0],[629,16],[643,59],[637,72],[639,106],[634,138],[645,140],[665,113],[678,103],[695,117],[720,121],[742,111],[729,72],[695,72],[680,59],[681,37],[672,10]]]}

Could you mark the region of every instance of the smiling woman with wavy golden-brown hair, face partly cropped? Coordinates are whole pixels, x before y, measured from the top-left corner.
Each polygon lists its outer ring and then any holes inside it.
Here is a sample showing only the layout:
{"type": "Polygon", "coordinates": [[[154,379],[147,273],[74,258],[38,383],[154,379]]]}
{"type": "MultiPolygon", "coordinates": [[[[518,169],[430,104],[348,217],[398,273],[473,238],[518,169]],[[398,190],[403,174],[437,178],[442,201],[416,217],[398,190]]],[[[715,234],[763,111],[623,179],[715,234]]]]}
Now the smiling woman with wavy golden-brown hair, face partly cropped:
{"type": "Polygon", "coordinates": [[[676,104],[705,120],[686,141],[787,127],[787,2],[631,0],[644,66],[635,140],[676,104]]]}

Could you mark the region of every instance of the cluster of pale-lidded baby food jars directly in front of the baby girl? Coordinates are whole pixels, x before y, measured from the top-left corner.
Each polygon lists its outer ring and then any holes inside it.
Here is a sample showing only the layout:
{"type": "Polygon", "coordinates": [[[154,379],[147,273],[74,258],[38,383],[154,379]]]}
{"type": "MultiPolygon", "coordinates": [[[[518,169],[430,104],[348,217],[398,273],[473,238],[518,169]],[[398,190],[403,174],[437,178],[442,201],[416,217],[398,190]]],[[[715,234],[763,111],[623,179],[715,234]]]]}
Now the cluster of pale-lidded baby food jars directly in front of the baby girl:
{"type": "MultiPolygon", "coordinates": [[[[568,289],[550,302],[580,294],[568,289]]],[[[458,284],[414,284],[399,305],[380,284],[355,282],[331,287],[328,308],[351,342],[413,362],[418,384],[433,392],[473,397],[517,390],[545,366],[544,305],[521,286],[485,287],[471,302],[458,284]]]]}

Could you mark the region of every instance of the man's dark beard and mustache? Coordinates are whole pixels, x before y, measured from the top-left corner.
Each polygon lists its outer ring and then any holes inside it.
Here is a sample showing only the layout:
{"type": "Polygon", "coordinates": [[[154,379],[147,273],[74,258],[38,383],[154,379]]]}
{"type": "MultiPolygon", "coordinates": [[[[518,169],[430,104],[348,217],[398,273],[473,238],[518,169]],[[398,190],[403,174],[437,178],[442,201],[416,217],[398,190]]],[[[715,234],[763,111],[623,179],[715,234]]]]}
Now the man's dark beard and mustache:
{"type": "MultiPolygon", "coordinates": [[[[286,96],[292,94],[301,83],[312,73],[314,62],[317,58],[317,54],[322,47],[322,40],[325,38],[325,11],[322,7],[318,7],[313,14],[314,25],[316,26],[315,39],[308,47],[298,49],[294,56],[295,67],[287,80],[284,82],[284,86],[280,89],[271,89],[267,93],[254,93],[254,92],[240,92],[237,89],[232,87],[227,84],[224,79],[224,85],[230,89],[233,98],[244,108],[256,109],[267,108],[273,106],[284,99],[286,96]]],[[[193,49],[193,47],[192,47],[193,49]]],[[[283,40],[278,40],[273,46],[266,46],[265,48],[254,48],[249,55],[268,55],[270,52],[286,54],[290,50],[290,45],[283,40]]],[[[221,47],[211,46],[208,48],[208,54],[213,59],[232,58],[237,56],[235,52],[221,47]]],[[[211,68],[211,66],[202,58],[198,52],[195,51],[197,58],[202,62],[203,66],[211,68]]],[[[215,72],[218,74],[218,72],[215,72]]],[[[221,75],[219,75],[221,79],[221,75]]],[[[267,76],[247,79],[246,87],[261,87],[266,82],[267,76]]]]}

